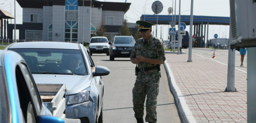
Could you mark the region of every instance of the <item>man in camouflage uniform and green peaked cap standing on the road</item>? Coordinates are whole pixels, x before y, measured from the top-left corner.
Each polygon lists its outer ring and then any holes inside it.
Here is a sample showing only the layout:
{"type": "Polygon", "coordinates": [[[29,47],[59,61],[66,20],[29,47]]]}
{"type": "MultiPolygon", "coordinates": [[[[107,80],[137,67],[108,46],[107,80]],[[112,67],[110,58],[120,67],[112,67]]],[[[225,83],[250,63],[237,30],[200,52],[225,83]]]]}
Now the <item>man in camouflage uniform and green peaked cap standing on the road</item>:
{"type": "MultiPolygon", "coordinates": [[[[144,102],[146,100],[146,122],[156,123],[156,97],[158,95],[160,64],[166,60],[163,41],[151,34],[152,23],[137,21],[143,38],[136,41],[131,51],[131,62],[138,64],[137,78],[132,89],[133,110],[137,123],[144,123],[144,102]]],[[[136,65],[137,66],[137,65],[136,65]]]]}

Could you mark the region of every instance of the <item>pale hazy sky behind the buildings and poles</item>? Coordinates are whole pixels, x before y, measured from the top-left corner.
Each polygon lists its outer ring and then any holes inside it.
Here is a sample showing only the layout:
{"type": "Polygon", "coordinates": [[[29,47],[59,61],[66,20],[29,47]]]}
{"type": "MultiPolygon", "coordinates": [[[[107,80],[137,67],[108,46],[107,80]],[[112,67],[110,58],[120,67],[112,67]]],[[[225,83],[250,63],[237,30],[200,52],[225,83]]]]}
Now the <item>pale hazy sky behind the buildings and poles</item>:
{"type": "MultiPolygon", "coordinates": [[[[126,0],[98,0],[102,2],[125,2],[126,0]]],[[[153,2],[156,0],[127,0],[127,3],[131,3],[129,10],[125,13],[124,18],[129,23],[136,23],[144,13],[146,15],[153,15],[154,12],[151,9],[153,2]]],[[[175,11],[175,0],[159,0],[163,4],[163,11],[158,15],[168,15],[167,9],[173,7],[175,11]],[[173,3],[173,4],[172,4],[173,3]]],[[[22,8],[16,2],[16,24],[22,24],[22,8]]],[[[197,16],[220,16],[230,17],[229,0],[194,0],[193,3],[193,15],[197,16]]],[[[14,0],[0,0],[0,9],[10,12],[14,16],[14,0]]],[[[181,15],[190,15],[191,0],[181,0],[181,15]]],[[[179,14],[179,0],[176,0],[176,15],[179,14]]],[[[14,19],[11,21],[14,23],[14,19]]],[[[9,22],[10,23],[10,22],[9,22]]],[[[170,26],[169,26],[170,27],[170,26]]],[[[153,27],[154,29],[156,27],[153,27]]],[[[178,25],[176,25],[178,28],[178,25]]],[[[194,28],[194,27],[193,27],[194,28]]],[[[157,26],[157,37],[161,37],[163,40],[168,39],[168,25],[157,26]],[[162,27],[162,34],[161,34],[162,27]]],[[[206,28],[207,30],[207,28],[206,28]]],[[[156,31],[152,30],[156,35],[156,31]]],[[[189,26],[186,26],[185,31],[189,32],[189,26]]],[[[194,31],[194,30],[193,30],[194,31]]],[[[213,35],[217,34],[218,38],[229,38],[229,26],[225,25],[209,25],[209,38],[213,39],[213,35]]],[[[18,35],[16,36],[18,38],[18,35]]]]}

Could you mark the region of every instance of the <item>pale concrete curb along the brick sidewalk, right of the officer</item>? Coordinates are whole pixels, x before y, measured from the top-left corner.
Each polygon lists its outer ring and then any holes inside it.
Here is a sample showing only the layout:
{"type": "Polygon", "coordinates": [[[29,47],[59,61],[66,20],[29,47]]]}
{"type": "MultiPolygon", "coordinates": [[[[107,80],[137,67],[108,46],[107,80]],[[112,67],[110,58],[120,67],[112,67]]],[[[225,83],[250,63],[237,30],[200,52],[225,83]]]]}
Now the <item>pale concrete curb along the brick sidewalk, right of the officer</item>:
{"type": "Polygon", "coordinates": [[[164,66],[165,66],[165,70],[166,70],[166,74],[169,82],[169,88],[171,89],[174,95],[183,123],[196,123],[179,87],[175,82],[174,76],[172,74],[169,64],[167,63],[167,60],[164,62],[164,66]]]}

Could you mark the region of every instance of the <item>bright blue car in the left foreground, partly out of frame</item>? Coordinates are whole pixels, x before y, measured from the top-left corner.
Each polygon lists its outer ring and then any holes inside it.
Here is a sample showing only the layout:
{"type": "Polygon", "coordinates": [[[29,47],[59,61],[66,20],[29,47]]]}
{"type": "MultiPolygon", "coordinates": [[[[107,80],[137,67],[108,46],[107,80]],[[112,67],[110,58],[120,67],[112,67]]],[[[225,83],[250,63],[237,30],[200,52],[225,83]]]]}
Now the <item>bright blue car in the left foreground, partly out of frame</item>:
{"type": "Polygon", "coordinates": [[[64,123],[42,104],[24,59],[0,50],[0,123],[64,123]]]}

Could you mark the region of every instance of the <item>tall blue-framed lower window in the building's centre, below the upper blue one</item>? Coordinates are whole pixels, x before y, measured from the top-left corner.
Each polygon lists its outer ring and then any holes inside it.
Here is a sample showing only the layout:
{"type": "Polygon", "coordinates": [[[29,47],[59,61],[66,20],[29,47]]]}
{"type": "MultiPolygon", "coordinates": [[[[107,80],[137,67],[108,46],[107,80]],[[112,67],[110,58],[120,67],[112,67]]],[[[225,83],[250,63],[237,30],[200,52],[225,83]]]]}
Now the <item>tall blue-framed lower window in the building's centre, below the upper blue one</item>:
{"type": "Polygon", "coordinates": [[[65,21],[65,41],[77,42],[78,23],[77,21],[65,21]]]}

